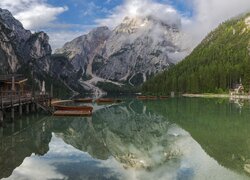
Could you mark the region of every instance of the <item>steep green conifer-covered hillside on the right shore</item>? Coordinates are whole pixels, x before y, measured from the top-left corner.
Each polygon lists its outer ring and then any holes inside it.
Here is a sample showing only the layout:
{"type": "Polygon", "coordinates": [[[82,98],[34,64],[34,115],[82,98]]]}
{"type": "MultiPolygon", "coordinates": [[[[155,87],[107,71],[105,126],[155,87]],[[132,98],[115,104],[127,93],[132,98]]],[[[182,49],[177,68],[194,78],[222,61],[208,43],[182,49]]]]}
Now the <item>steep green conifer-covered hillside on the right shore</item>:
{"type": "Polygon", "coordinates": [[[211,32],[179,64],[150,79],[143,91],[153,94],[222,93],[242,80],[250,88],[250,13],[211,32]]]}

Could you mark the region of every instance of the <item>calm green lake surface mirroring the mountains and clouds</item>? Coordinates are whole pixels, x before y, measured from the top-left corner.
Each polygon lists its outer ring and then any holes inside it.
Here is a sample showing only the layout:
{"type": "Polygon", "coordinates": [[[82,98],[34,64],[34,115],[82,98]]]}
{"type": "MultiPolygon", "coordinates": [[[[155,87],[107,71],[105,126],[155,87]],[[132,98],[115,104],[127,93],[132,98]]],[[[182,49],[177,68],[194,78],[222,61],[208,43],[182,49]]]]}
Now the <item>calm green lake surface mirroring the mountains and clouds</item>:
{"type": "Polygon", "coordinates": [[[125,100],[0,129],[0,179],[250,179],[250,103],[125,100]]]}

